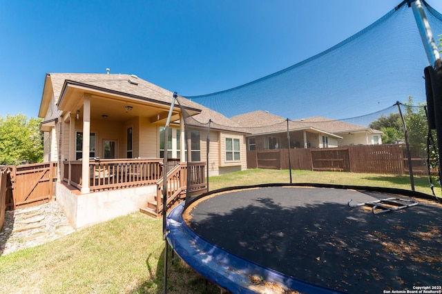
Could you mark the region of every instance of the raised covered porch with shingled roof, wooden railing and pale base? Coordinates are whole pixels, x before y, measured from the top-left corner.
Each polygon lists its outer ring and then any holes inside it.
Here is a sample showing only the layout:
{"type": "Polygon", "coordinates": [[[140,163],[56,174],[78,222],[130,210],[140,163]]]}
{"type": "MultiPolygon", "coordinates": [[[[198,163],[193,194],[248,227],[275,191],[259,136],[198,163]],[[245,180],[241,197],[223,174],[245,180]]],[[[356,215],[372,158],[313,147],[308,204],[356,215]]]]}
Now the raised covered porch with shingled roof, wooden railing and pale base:
{"type": "MultiPolygon", "coordinates": [[[[135,75],[46,75],[39,115],[45,117],[45,158],[58,162],[57,202],[75,228],[160,202],[165,150],[173,158],[167,164],[168,205],[189,190],[181,108],[189,115],[201,110],[185,99],[171,105],[172,98],[172,92],[135,75]],[[162,135],[169,110],[171,121],[180,124],[172,151],[162,135]]],[[[189,164],[200,193],[204,169],[204,162],[189,164]]],[[[161,209],[155,204],[151,214],[161,209]]]]}

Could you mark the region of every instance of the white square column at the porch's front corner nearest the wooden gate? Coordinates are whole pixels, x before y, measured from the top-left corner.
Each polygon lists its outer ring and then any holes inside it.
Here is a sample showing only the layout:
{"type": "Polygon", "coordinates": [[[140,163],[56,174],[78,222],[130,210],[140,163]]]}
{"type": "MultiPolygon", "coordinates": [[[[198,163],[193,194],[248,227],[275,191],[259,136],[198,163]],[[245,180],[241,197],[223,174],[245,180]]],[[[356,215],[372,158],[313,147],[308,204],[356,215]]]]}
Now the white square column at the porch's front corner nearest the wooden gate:
{"type": "Polygon", "coordinates": [[[83,102],[83,161],[81,162],[81,194],[89,193],[90,95],[83,102]]]}

